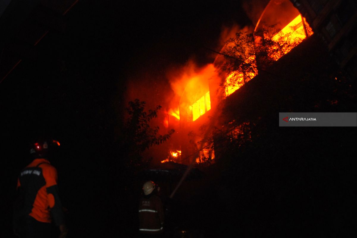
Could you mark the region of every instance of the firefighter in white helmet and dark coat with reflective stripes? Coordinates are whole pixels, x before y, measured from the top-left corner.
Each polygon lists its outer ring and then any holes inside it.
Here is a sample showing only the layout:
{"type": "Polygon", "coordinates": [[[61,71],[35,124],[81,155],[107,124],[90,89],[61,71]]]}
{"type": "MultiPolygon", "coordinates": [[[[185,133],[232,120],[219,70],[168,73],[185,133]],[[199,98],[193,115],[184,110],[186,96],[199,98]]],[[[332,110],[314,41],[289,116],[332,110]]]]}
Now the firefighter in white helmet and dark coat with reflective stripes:
{"type": "Polygon", "coordinates": [[[164,226],[164,207],[157,192],[160,190],[152,181],[142,186],[144,192],[139,203],[139,232],[141,237],[160,237],[164,226]]]}

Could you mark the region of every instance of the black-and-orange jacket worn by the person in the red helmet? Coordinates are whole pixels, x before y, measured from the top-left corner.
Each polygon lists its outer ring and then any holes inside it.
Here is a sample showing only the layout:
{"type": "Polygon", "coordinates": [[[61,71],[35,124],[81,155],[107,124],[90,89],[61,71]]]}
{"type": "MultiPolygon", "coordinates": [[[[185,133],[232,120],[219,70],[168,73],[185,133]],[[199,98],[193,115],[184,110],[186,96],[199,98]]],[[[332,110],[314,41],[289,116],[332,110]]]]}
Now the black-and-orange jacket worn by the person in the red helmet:
{"type": "Polygon", "coordinates": [[[57,226],[64,224],[64,215],[57,186],[57,170],[47,159],[34,159],[19,174],[17,180],[21,212],[17,216],[30,215],[39,222],[57,226]]]}

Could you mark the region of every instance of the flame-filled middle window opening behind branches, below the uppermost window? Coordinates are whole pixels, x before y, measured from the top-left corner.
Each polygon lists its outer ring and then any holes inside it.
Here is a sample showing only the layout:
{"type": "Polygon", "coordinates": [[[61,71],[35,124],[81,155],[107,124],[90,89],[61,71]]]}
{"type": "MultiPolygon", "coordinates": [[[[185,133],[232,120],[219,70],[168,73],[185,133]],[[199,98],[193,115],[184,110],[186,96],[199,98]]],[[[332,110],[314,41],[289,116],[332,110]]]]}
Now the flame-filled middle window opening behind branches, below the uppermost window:
{"type": "Polygon", "coordinates": [[[246,82],[258,75],[255,56],[251,56],[248,62],[242,64],[238,70],[232,71],[226,78],[225,93],[226,97],[242,87],[246,82]]]}

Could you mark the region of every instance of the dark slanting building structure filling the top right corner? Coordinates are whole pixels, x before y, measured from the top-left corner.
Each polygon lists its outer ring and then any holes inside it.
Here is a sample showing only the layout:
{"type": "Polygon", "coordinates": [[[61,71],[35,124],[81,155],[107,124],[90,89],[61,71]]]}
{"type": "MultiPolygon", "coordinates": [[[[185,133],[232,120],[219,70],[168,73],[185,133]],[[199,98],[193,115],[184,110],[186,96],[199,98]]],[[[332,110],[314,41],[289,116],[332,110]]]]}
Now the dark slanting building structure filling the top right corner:
{"type": "Polygon", "coordinates": [[[325,42],[330,55],[353,80],[357,77],[357,2],[290,0],[325,42]]]}

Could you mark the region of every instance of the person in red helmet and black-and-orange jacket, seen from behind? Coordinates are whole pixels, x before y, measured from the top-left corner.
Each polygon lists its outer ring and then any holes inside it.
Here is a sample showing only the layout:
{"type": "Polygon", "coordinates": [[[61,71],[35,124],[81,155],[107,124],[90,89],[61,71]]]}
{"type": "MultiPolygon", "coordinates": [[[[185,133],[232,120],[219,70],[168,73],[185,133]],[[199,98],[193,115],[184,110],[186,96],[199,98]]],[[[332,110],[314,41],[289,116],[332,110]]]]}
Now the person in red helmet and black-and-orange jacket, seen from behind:
{"type": "Polygon", "coordinates": [[[20,238],[49,238],[52,220],[59,227],[59,237],[67,235],[57,170],[49,160],[49,152],[58,146],[60,143],[55,140],[33,143],[30,153],[34,160],[19,174],[14,204],[14,233],[20,238]]]}

